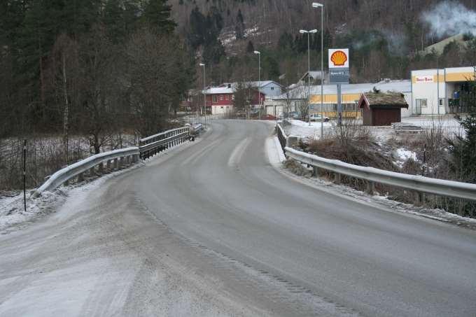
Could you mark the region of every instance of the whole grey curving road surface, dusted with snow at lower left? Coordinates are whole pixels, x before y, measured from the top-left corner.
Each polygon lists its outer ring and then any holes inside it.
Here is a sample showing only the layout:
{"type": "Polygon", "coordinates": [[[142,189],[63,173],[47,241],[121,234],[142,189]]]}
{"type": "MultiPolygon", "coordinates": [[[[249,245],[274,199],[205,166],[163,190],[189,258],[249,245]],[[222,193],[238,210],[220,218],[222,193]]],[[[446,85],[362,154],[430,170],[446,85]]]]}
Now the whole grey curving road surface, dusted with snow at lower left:
{"type": "Polygon", "coordinates": [[[321,192],[267,159],[263,122],[0,237],[0,316],[475,316],[476,234],[321,192]]]}

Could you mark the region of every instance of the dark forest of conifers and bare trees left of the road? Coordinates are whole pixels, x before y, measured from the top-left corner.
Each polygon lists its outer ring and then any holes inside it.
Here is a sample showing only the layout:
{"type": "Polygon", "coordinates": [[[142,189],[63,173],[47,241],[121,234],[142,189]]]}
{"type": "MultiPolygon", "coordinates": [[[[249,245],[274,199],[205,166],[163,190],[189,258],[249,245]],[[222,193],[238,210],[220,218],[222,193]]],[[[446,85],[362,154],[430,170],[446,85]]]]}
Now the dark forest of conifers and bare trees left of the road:
{"type": "Polygon", "coordinates": [[[0,4],[0,136],[89,137],[166,127],[193,84],[193,58],[165,0],[0,4]]]}

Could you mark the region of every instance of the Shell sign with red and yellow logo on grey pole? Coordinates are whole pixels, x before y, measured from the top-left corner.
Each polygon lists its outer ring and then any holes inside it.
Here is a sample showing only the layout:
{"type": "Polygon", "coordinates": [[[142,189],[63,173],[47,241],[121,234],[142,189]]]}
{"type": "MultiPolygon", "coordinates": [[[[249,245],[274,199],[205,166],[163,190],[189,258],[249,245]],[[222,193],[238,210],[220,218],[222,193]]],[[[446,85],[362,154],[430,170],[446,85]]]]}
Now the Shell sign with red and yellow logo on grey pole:
{"type": "Polygon", "coordinates": [[[337,85],[337,122],[342,124],[342,84],[349,83],[349,48],[329,50],[329,83],[337,85]]]}

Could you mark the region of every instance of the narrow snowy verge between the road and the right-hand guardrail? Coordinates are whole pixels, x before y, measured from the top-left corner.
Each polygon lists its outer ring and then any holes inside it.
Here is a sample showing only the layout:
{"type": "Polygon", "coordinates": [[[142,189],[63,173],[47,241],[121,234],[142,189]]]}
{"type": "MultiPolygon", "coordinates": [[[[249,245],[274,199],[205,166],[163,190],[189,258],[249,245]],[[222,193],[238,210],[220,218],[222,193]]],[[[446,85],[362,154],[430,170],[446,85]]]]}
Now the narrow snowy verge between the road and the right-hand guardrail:
{"type": "Polygon", "coordinates": [[[459,227],[476,230],[476,219],[461,217],[455,215],[454,213],[448,213],[442,209],[428,209],[424,206],[414,206],[411,204],[404,204],[402,202],[395,202],[394,200],[388,199],[386,196],[367,195],[365,192],[360,190],[355,190],[346,185],[337,185],[323,178],[297,176],[283,167],[282,160],[276,159],[276,157],[281,157],[281,155],[284,156],[283,150],[281,149],[281,146],[279,146],[279,140],[277,136],[270,137],[266,144],[267,155],[272,166],[280,171],[283,175],[288,176],[295,181],[310,185],[318,190],[330,192],[333,195],[337,195],[345,199],[357,200],[363,204],[369,204],[370,206],[377,207],[384,211],[408,213],[415,216],[430,218],[433,220],[442,221],[444,223],[458,225],[459,227]]]}

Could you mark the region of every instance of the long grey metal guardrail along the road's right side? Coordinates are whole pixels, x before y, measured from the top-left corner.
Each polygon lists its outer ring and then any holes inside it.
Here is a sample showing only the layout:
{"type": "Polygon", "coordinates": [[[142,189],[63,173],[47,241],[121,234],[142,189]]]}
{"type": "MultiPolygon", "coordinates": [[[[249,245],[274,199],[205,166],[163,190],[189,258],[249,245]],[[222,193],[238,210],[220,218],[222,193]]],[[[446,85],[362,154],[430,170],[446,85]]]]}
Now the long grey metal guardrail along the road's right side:
{"type": "Polygon", "coordinates": [[[318,157],[317,155],[300,152],[288,147],[285,148],[285,153],[286,156],[298,162],[311,165],[314,168],[314,174],[316,174],[316,168],[320,168],[336,173],[338,179],[340,179],[340,175],[364,179],[368,184],[367,192],[372,192],[374,183],[382,183],[408,190],[416,190],[417,192],[476,201],[476,184],[402,174],[373,167],[360,167],[339,160],[318,157]]]}

